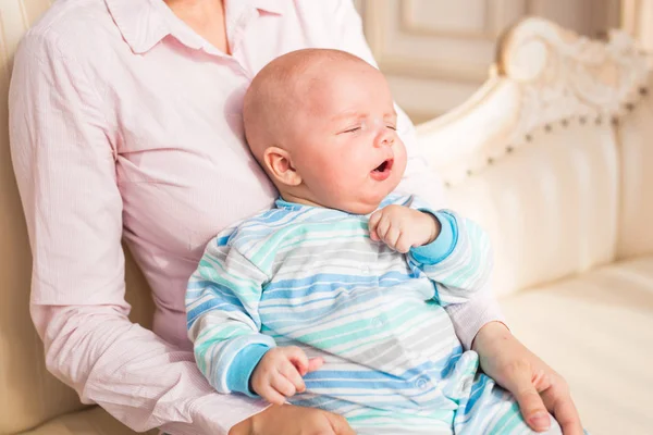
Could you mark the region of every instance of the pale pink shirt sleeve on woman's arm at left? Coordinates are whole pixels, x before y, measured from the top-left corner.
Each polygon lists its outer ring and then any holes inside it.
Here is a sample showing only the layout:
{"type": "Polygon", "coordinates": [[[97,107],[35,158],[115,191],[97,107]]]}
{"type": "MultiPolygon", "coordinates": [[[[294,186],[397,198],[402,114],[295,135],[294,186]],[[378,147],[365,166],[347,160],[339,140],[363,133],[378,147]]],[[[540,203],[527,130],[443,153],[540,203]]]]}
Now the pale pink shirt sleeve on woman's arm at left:
{"type": "Polygon", "coordinates": [[[28,34],[10,90],[12,161],[33,253],[30,312],[46,364],[135,431],[226,434],[266,405],[217,394],[194,361],[133,324],[122,201],[100,96],[52,34],[28,34]]]}

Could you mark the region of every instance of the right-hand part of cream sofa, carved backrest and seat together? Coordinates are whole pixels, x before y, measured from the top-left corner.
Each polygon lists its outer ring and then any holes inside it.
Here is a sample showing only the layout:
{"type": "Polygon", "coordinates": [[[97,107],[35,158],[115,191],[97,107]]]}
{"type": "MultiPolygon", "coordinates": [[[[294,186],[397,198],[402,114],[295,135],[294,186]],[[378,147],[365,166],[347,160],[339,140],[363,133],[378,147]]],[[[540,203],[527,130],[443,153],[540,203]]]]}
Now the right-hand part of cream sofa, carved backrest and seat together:
{"type": "Polygon", "coordinates": [[[418,127],[451,207],[495,249],[513,332],[594,435],[653,434],[653,75],[625,34],[506,33],[485,85],[418,127]]]}

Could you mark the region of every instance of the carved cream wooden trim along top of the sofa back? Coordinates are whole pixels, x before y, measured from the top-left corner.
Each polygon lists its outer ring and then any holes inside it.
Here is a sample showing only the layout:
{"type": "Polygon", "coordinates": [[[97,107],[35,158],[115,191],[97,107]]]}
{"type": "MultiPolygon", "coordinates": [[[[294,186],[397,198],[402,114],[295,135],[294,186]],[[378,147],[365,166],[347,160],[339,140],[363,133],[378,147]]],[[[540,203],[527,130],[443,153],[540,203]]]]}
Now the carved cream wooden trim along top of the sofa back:
{"type": "Polygon", "coordinates": [[[651,95],[651,58],[626,33],[613,30],[602,42],[543,18],[526,18],[500,39],[496,63],[483,87],[418,130],[424,137],[470,128],[486,132],[464,149],[424,149],[430,161],[451,156],[438,170],[452,186],[528,147],[541,134],[571,124],[615,128],[651,95]]]}

